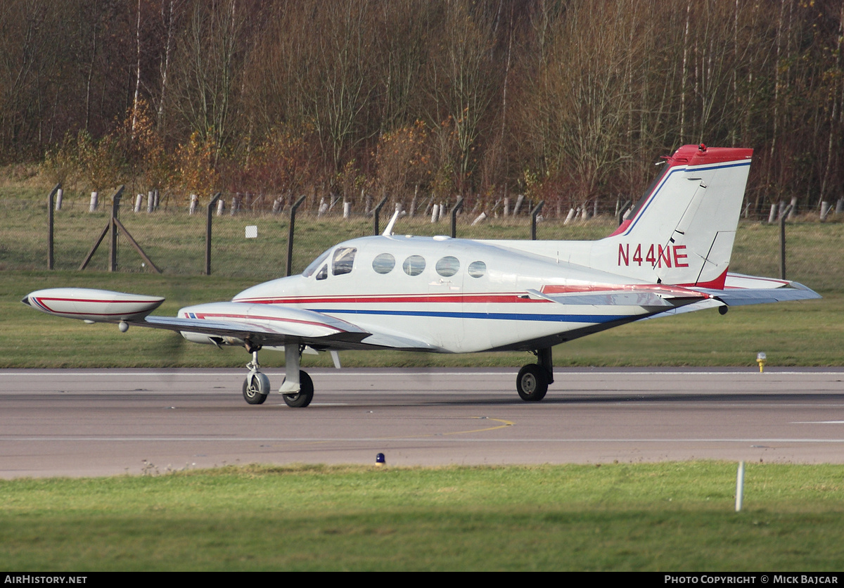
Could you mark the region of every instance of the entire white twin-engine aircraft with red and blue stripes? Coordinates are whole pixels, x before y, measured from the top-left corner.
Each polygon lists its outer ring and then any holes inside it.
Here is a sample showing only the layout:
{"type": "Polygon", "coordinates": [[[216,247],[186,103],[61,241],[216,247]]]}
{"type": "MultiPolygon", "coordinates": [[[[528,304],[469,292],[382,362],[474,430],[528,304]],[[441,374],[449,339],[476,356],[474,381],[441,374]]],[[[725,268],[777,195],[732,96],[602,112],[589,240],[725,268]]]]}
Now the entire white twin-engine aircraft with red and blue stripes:
{"type": "Polygon", "coordinates": [[[537,362],[519,371],[522,400],[554,381],[551,348],[613,326],[690,310],[820,298],[801,284],[728,272],[752,149],[686,145],[667,158],[629,218],[597,241],[464,240],[393,235],[340,243],[299,276],[279,278],[230,302],[151,316],[163,298],[56,288],[24,304],[86,322],[181,332],[194,343],[252,353],[243,396],[270,392],[261,348],[284,348],[279,392],[290,407],[314,394],[300,370],[310,348],[431,353],[519,350],[537,362]]]}

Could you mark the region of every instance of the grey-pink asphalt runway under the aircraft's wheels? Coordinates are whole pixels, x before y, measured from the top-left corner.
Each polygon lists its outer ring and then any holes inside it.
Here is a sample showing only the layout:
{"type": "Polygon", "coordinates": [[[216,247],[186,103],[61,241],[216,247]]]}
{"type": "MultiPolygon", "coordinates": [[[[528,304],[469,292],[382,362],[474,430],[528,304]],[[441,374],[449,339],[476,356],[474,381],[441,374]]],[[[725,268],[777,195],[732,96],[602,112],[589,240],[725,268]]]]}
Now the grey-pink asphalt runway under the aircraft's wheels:
{"type": "MultiPolygon", "coordinates": [[[[246,370],[0,370],[0,477],[261,463],[844,462],[844,370],[314,369],[310,407],[246,370]]],[[[265,370],[278,388],[283,370],[265,370]]]]}

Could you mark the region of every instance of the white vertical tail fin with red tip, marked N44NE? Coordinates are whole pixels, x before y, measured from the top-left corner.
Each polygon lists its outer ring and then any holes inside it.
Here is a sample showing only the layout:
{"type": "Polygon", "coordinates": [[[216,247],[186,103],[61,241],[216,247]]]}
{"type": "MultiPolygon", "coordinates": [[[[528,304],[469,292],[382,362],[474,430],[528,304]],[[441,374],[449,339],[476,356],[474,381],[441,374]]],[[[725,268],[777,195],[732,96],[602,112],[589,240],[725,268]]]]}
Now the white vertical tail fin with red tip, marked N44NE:
{"type": "Polygon", "coordinates": [[[602,266],[648,282],[723,288],[752,154],[679,148],[630,218],[595,244],[602,266]]]}

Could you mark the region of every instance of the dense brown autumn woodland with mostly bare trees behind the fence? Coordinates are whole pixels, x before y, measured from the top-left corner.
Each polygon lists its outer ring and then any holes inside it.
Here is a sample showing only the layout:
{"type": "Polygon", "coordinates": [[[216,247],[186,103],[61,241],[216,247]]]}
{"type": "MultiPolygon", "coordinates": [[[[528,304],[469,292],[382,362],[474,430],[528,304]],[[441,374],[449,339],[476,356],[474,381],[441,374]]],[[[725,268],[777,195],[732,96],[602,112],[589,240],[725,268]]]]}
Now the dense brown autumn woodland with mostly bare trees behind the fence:
{"type": "Polygon", "coordinates": [[[844,197],[842,42],[832,0],[4,0],[0,162],[567,213],[707,143],[755,148],[753,210],[817,207],[844,197]]]}

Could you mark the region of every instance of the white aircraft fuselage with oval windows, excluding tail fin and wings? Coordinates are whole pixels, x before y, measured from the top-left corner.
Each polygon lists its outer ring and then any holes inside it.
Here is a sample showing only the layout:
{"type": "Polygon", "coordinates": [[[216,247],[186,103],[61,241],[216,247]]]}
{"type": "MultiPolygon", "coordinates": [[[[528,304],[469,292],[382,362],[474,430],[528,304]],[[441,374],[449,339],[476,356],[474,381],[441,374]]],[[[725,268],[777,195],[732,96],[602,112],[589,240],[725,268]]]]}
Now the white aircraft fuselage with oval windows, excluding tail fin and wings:
{"type": "Polygon", "coordinates": [[[321,257],[304,274],[258,284],[232,301],[292,305],[363,329],[413,333],[444,353],[549,347],[649,314],[641,306],[532,298],[529,289],[591,291],[617,286],[619,277],[482,241],[364,237],[321,257]]]}

